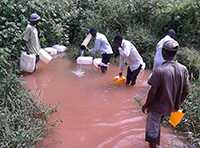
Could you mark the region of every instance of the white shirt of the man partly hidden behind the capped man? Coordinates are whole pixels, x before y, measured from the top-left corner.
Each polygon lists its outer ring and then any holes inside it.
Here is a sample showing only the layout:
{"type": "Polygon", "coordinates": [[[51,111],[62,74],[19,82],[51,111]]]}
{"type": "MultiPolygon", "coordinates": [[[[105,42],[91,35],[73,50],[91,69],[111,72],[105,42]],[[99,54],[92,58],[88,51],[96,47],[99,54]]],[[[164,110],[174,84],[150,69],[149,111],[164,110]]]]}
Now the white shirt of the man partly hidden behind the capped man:
{"type": "Polygon", "coordinates": [[[163,58],[163,55],[162,55],[162,48],[163,48],[163,44],[169,40],[174,40],[174,39],[172,37],[170,37],[169,35],[166,35],[156,45],[156,53],[155,53],[155,57],[154,57],[154,66],[153,66],[154,69],[156,67],[162,65],[162,63],[165,61],[163,58]]]}

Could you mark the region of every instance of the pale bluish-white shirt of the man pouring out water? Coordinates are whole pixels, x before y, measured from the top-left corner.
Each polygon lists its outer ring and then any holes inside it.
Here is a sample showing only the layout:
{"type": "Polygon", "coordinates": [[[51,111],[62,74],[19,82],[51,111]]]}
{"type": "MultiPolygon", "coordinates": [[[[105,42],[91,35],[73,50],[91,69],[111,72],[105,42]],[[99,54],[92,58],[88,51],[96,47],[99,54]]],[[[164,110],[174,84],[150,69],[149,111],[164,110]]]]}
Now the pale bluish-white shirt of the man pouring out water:
{"type": "Polygon", "coordinates": [[[100,52],[101,54],[113,54],[112,48],[110,46],[110,43],[108,42],[105,35],[97,32],[96,38],[95,38],[95,45],[92,49],[93,52],[100,52]]]}

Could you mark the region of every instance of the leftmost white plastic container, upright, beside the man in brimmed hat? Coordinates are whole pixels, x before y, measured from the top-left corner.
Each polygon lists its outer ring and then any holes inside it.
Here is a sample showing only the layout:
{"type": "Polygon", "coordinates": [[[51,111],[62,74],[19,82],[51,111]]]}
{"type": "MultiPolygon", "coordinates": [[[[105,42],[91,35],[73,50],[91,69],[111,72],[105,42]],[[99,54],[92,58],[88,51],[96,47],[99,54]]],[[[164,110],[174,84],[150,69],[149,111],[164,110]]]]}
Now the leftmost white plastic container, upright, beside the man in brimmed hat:
{"type": "Polygon", "coordinates": [[[34,54],[21,53],[20,69],[32,73],[35,70],[36,56],[34,54]]]}

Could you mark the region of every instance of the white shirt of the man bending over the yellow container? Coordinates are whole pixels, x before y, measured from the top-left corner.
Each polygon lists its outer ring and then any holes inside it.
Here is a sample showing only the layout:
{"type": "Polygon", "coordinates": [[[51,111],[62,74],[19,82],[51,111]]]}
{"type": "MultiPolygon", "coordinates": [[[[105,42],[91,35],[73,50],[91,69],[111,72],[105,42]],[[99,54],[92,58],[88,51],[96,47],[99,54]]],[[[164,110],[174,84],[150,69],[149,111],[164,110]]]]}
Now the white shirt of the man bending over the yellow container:
{"type": "Polygon", "coordinates": [[[143,65],[143,59],[138,53],[135,46],[128,40],[122,40],[122,45],[119,48],[120,53],[120,68],[123,69],[125,64],[128,64],[131,71],[139,68],[140,64],[143,65]]]}

